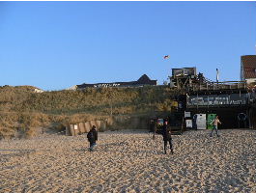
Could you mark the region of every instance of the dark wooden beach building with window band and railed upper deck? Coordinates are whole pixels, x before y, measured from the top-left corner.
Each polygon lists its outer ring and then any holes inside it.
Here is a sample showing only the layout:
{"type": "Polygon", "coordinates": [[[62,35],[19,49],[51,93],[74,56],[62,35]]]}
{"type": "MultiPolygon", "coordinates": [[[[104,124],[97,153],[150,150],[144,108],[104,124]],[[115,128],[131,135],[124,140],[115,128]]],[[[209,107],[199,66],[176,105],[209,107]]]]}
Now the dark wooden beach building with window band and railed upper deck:
{"type": "MultiPolygon", "coordinates": [[[[242,65],[243,72],[248,70],[243,58],[242,65]]],[[[195,72],[195,68],[173,69],[170,77],[174,88],[179,91],[177,98],[181,111],[190,112],[191,117],[216,114],[222,123],[220,128],[256,128],[256,90],[248,87],[246,79],[213,82],[195,72]],[[187,69],[188,72],[183,72],[187,69]],[[181,73],[176,73],[179,71],[181,73]]],[[[252,77],[247,72],[243,74],[244,78],[252,77]]]]}

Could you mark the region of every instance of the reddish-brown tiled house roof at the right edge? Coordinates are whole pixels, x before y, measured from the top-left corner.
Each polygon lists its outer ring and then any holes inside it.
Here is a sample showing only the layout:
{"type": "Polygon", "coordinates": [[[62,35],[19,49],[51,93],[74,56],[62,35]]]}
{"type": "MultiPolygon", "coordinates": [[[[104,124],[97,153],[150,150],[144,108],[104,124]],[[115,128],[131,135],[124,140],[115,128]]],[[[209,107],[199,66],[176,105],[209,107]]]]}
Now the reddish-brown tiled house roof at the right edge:
{"type": "Polygon", "coordinates": [[[256,55],[241,57],[244,79],[256,78],[256,55]]]}

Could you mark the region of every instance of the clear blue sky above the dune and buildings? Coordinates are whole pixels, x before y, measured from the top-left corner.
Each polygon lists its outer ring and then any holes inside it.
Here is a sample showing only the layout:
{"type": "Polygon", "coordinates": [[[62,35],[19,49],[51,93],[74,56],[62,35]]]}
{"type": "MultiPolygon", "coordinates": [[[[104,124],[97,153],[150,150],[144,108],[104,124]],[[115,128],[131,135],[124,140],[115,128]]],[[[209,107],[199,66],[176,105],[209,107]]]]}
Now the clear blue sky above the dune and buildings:
{"type": "Polygon", "coordinates": [[[240,80],[255,44],[255,2],[0,2],[1,86],[162,84],[185,67],[240,80]]]}

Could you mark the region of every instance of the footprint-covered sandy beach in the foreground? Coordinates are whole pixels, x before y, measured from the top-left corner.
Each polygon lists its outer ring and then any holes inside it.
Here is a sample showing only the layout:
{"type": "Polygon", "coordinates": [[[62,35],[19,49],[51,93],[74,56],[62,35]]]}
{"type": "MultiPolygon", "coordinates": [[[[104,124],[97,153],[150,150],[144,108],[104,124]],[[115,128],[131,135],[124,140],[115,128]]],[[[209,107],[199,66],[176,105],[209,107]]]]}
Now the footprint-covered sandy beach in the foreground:
{"type": "Polygon", "coordinates": [[[256,192],[256,130],[186,131],[162,137],[145,130],[0,141],[0,192],[256,192]]]}

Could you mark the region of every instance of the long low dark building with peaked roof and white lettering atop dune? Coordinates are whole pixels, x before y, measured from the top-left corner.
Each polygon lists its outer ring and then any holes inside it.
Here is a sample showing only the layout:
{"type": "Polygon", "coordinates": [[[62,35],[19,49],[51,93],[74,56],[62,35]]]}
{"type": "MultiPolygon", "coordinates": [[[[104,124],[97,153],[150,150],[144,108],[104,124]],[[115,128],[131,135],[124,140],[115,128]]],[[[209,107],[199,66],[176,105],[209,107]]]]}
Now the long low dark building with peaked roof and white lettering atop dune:
{"type": "Polygon", "coordinates": [[[145,85],[156,85],[157,80],[151,80],[149,76],[143,74],[137,81],[130,82],[112,82],[112,83],[96,83],[96,84],[81,84],[76,85],[77,90],[82,90],[88,87],[101,88],[101,87],[140,87],[145,85]]]}

